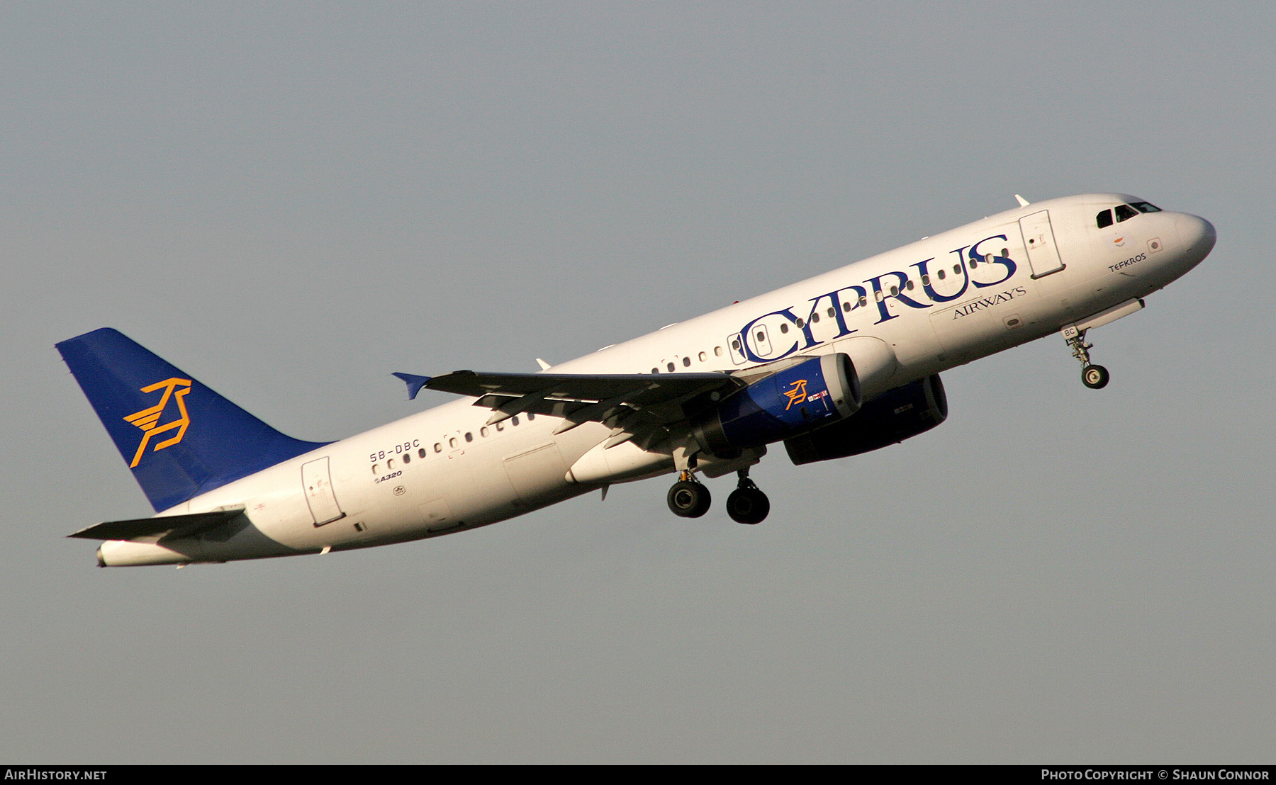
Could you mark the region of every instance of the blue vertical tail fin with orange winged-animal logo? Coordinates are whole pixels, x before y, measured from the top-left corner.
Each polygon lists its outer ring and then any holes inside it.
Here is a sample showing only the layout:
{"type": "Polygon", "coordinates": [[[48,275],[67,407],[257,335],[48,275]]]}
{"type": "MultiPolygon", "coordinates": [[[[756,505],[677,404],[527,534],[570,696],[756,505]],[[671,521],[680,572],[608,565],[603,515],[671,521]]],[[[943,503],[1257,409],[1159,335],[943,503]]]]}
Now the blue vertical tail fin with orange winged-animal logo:
{"type": "Polygon", "coordinates": [[[57,350],[156,511],[327,443],[279,433],[117,330],[57,350]]]}

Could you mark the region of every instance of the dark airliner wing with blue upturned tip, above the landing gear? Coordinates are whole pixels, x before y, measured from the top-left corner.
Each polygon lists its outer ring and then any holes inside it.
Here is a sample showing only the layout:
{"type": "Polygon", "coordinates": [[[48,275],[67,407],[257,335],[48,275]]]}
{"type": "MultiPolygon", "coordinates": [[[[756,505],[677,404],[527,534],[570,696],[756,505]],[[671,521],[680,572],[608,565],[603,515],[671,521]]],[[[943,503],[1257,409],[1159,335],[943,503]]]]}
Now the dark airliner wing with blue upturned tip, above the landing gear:
{"type": "Polygon", "coordinates": [[[485,373],[445,376],[396,373],[410,398],[422,387],[476,398],[493,409],[487,424],[528,412],[564,418],[555,433],[582,423],[611,428],[609,447],[633,440],[643,450],[657,445],[670,426],[686,419],[683,404],[715,392],[725,398],[746,382],[729,373],[485,373]]]}

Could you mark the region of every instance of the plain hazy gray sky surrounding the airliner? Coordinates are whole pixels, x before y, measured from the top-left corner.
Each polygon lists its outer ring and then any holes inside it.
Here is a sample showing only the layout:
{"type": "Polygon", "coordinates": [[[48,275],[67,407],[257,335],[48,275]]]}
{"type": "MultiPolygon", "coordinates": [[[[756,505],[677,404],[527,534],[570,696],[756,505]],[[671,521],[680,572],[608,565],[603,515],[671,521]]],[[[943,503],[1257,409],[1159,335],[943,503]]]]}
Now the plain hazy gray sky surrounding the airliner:
{"type": "MultiPolygon", "coordinates": [[[[1040,4],[1046,5],[1046,4],[1040,4]]],[[[1276,6],[0,6],[0,760],[1271,762],[1276,6]],[[328,557],[97,570],[149,514],[55,342],[279,429],[533,371],[1014,205],[1219,243],[944,376],[760,526],[612,488],[328,557]]]]}

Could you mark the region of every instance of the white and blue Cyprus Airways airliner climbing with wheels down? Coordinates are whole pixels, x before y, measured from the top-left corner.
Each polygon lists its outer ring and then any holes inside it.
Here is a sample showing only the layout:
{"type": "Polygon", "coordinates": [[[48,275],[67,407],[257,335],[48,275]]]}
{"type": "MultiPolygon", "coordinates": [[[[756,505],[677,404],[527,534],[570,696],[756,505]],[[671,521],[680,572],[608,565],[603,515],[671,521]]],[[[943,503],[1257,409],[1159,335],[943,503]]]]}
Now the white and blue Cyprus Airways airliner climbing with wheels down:
{"type": "Polygon", "coordinates": [[[1091,330],[1194,268],[1213,226],[1125,194],[1018,206],[536,373],[396,372],[462,396],[336,442],[271,428],[121,333],[57,344],[156,515],[88,526],[98,566],[227,562],[417,540],[616,483],[675,475],[674,515],[758,524],[749,479],[860,455],[948,417],[939,373],[1060,333],[1100,389],[1091,330]]]}

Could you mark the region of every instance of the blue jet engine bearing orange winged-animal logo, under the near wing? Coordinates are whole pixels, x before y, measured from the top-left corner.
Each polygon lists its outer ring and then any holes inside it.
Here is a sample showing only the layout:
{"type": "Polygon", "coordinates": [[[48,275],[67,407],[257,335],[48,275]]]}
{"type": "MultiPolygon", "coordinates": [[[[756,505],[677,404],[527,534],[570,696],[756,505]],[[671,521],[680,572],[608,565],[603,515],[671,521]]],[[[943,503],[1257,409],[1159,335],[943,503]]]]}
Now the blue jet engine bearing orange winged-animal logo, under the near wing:
{"type": "Polygon", "coordinates": [[[776,371],[692,419],[701,447],[721,457],[777,442],[855,414],[860,378],[846,354],[776,371]]]}

